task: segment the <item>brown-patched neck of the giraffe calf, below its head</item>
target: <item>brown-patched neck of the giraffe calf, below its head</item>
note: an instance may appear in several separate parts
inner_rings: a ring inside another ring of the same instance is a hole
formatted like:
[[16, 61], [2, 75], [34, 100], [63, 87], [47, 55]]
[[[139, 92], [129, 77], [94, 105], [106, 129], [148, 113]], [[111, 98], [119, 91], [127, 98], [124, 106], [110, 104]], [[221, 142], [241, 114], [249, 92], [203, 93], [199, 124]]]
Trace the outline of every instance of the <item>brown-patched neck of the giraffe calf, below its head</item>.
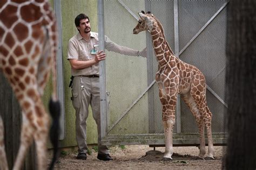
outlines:
[[164, 32], [160, 26], [154, 27], [151, 31], [151, 36], [154, 52], [160, 67], [165, 66], [171, 60], [174, 60], [175, 56], [169, 47], [168, 42], [165, 40]]

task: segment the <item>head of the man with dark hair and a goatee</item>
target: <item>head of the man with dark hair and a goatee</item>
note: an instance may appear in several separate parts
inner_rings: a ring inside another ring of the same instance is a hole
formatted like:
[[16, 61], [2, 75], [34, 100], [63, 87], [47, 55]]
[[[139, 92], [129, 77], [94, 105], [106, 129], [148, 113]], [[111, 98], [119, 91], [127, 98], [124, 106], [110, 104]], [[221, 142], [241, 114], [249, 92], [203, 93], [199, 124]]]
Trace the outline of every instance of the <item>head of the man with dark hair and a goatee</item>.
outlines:
[[[91, 31], [91, 25], [90, 25], [90, 19], [88, 16], [86, 16], [84, 13], [80, 13], [75, 18], [75, 25], [77, 27], [77, 30], [83, 31], [84, 33], [88, 33]], [[81, 32], [80, 32], [81, 33]]]

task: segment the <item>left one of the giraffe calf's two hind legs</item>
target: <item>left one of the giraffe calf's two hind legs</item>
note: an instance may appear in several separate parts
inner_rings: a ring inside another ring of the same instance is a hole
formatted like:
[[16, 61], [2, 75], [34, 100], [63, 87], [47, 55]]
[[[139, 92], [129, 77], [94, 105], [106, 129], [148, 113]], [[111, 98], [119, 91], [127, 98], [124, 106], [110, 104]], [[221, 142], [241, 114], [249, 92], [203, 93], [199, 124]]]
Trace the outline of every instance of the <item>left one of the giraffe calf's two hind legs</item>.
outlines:
[[190, 95], [190, 92], [187, 94], [181, 95], [184, 102], [187, 104], [188, 108], [196, 118], [196, 122], [199, 129], [199, 137], [200, 137], [200, 146], [199, 146], [199, 155], [198, 157], [204, 159], [206, 150], [205, 150], [205, 134], [204, 134], [204, 121], [203, 117], [200, 115], [199, 109], [197, 107], [197, 103], [194, 101], [193, 97]]

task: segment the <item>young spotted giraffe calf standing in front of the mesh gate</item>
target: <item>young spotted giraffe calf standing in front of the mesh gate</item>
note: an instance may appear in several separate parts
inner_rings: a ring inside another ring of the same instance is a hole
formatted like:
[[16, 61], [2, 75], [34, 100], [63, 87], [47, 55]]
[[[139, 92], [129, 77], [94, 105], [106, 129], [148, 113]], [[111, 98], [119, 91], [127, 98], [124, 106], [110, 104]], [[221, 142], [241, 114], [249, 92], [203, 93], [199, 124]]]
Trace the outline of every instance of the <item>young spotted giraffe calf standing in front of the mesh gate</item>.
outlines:
[[150, 12], [145, 14], [143, 11], [139, 15], [139, 23], [134, 27], [133, 34], [138, 34], [141, 31], [149, 31], [151, 33], [154, 52], [159, 64], [156, 82], [158, 83], [160, 102], [163, 107], [162, 119], [165, 133], [163, 160], [172, 159], [172, 133], [178, 94], [180, 94], [196, 118], [200, 133], [199, 158], [204, 159], [206, 154], [204, 138], [204, 128], [206, 127], [208, 138], [207, 159], [214, 159], [211, 132], [212, 113], [206, 102], [205, 76], [197, 67], [181, 61], [174, 55], [165, 40], [163, 26], [156, 17]]

